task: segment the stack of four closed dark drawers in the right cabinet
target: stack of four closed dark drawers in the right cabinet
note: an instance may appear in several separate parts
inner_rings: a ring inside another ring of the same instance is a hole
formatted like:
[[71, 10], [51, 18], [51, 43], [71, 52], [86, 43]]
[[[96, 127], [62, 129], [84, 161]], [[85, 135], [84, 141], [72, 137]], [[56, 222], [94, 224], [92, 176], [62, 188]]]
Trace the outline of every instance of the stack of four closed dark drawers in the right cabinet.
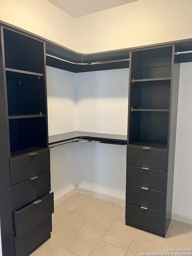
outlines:
[[168, 153], [127, 146], [126, 224], [159, 236], [165, 236]]

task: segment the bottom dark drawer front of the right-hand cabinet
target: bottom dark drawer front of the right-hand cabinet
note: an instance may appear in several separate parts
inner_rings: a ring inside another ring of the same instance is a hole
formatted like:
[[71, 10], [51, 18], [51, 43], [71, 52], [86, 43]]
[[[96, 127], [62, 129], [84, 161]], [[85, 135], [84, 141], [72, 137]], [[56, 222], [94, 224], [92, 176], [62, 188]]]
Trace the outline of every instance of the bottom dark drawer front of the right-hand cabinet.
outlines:
[[126, 224], [165, 237], [166, 214], [126, 203]]

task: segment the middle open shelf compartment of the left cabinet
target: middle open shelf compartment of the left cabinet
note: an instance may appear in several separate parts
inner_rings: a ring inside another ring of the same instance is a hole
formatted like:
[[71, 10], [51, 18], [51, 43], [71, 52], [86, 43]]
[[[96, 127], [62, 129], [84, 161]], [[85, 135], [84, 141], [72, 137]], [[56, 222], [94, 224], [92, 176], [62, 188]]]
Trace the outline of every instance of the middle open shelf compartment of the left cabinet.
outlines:
[[8, 114], [46, 113], [44, 77], [6, 71]]

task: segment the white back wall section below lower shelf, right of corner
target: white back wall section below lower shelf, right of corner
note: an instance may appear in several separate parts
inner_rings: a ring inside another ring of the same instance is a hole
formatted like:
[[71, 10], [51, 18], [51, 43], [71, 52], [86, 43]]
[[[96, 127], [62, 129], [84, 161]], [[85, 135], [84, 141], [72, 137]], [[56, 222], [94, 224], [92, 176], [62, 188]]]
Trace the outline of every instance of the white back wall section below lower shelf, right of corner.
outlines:
[[125, 202], [126, 146], [85, 142], [76, 147], [77, 186]]

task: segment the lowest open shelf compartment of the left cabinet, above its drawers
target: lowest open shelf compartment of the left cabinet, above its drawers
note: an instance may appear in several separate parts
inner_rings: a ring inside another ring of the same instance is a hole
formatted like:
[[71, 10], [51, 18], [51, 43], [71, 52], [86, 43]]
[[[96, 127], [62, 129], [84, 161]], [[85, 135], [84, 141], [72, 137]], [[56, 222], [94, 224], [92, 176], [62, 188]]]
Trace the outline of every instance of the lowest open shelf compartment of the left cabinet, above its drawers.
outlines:
[[46, 117], [9, 119], [11, 157], [47, 148]]

